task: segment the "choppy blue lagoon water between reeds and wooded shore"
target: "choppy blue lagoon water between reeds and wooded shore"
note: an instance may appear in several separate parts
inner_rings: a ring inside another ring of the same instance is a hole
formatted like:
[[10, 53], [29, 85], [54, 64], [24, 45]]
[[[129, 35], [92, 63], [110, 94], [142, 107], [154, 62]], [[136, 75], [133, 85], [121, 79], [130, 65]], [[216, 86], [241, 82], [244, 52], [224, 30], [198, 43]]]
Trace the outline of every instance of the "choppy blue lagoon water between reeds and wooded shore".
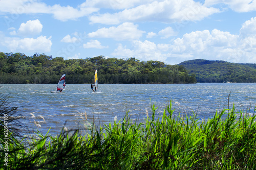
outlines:
[[[109, 124], [122, 119], [127, 111], [133, 120], [140, 122], [151, 105], [156, 115], [172, 100], [175, 114], [197, 113], [199, 118], [212, 117], [216, 111], [231, 108], [253, 114], [256, 106], [256, 83], [197, 83], [197, 84], [99, 84], [93, 93], [90, 84], [67, 84], [62, 93], [51, 93], [56, 84], [1, 84], [0, 93], [9, 94], [9, 106], [19, 107], [24, 124], [43, 133], [60, 131], [66, 122], [68, 129], [82, 125], [84, 112], [88, 122]], [[228, 106], [228, 95], [229, 106]], [[44, 118], [43, 118], [44, 117]], [[44, 120], [45, 119], [45, 120]]]

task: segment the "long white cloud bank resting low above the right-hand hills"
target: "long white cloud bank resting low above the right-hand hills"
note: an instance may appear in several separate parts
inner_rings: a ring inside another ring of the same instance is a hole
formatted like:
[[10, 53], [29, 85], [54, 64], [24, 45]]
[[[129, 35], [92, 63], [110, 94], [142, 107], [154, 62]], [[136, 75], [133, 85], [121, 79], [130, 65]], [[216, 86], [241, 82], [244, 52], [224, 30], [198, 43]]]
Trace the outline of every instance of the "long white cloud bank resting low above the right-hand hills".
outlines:
[[255, 24], [256, 18], [245, 21], [239, 35], [214, 29], [187, 33], [169, 44], [134, 40], [131, 48], [119, 44], [112, 55], [172, 64], [198, 58], [251, 63], [256, 61]]

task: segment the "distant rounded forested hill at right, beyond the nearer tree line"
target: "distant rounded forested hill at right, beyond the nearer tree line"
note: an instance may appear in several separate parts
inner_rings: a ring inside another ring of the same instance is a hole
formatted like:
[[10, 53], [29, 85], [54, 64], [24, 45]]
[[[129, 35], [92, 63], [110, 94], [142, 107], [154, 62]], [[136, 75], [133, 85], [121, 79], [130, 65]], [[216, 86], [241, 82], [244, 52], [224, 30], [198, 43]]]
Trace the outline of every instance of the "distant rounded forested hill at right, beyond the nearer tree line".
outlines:
[[196, 74], [197, 82], [252, 83], [256, 82], [256, 64], [238, 64], [226, 61], [210, 61], [203, 59], [184, 61], [183, 65], [189, 74]]

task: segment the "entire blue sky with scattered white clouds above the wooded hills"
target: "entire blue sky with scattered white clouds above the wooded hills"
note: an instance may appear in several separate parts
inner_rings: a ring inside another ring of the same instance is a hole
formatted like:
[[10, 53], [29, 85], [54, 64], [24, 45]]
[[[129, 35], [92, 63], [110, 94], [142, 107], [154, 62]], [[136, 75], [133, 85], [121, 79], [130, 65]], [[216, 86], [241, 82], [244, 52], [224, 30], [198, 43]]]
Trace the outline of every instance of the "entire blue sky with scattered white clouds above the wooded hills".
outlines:
[[0, 52], [256, 63], [254, 0], [0, 0]]

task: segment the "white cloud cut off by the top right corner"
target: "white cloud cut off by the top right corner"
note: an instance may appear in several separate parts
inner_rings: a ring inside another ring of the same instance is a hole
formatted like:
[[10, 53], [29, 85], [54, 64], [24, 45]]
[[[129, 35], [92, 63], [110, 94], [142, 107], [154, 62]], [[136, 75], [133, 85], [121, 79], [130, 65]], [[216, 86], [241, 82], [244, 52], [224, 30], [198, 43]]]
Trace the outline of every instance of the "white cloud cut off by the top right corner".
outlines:
[[254, 0], [205, 0], [205, 6], [213, 6], [217, 4], [225, 4], [236, 12], [250, 12], [256, 10], [256, 1]]

